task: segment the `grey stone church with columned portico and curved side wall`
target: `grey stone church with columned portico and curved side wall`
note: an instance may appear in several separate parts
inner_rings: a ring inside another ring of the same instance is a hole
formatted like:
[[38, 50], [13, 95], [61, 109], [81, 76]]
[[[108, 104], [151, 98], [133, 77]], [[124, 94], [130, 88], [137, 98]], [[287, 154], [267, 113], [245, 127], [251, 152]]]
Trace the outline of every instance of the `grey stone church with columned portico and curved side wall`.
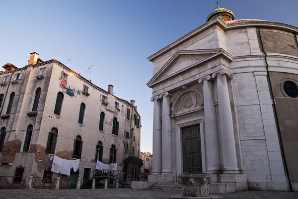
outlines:
[[297, 34], [218, 7], [151, 55], [149, 180], [202, 171], [212, 175], [213, 193], [298, 191]]

